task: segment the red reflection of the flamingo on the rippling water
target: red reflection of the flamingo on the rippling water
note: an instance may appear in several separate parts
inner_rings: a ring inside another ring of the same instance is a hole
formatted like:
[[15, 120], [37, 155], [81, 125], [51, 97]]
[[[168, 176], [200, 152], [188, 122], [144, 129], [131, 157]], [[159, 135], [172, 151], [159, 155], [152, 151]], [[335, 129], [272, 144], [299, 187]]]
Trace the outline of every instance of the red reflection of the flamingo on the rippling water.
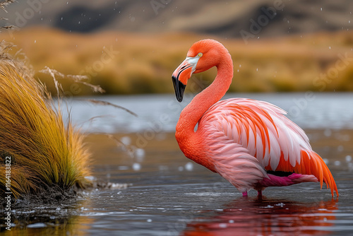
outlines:
[[328, 235], [337, 200], [317, 203], [240, 198], [208, 218], [196, 218], [181, 235]]

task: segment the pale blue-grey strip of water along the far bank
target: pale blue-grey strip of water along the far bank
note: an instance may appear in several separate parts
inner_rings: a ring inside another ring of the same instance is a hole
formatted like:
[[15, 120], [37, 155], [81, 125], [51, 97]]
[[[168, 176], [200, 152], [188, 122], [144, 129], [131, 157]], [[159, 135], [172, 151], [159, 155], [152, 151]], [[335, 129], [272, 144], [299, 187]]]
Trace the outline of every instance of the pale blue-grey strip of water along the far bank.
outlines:
[[[189, 104], [192, 94], [177, 102], [175, 95], [133, 95], [101, 97], [107, 102], [135, 112], [138, 117], [112, 107], [95, 106], [83, 99], [71, 100], [71, 117], [88, 132], [140, 132], [145, 130], [172, 132], [181, 110]], [[302, 129], [353, 129], [353, 93], [278, 93], [227, 94], [225, 98], [264, 100], [289, 112], [288, 117]], [[88, 122], [92, 117], [99, 117]]]

